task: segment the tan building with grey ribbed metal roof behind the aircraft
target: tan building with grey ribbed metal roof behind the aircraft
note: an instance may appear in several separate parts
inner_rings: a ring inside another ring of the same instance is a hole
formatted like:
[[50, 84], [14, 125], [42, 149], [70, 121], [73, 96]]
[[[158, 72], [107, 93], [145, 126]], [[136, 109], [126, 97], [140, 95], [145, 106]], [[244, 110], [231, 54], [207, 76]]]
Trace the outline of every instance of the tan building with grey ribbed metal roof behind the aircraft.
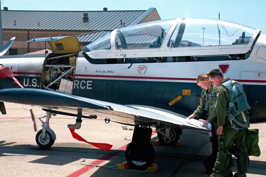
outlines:
[[[3, 44], [16, 37], [11, 46], [18, 51], [14, 54], [34, 52], [44, 49], [44, 44], [26, 44], [32, 38], [51, 36], [70, 36], [91, 33], [82, 37], [81, 45], [91, 43], [97, 38], [124, 26], [160, 20], [155, 8], [148, 10], [124, 11], [24, 11], [1, 10]], [[81, 37], [80, 37], [81, 38]]]

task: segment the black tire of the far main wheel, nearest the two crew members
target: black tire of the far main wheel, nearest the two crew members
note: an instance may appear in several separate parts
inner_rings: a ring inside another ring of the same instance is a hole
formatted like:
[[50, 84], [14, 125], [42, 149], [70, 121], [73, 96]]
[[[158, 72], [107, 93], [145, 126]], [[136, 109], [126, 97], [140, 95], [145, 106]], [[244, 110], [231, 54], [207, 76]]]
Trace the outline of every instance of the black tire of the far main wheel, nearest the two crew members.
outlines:
[[[160, 131], [163, 133], [166, 133], [166, 128], [162, 128]], [[162, 143], [172, 145], [178, 142], [180, 138], [180, 134], [179, 134], [178, 129], [171, 128], [169, 137], [165, 137], [160, 132], [157, 133], [157, 137]]]

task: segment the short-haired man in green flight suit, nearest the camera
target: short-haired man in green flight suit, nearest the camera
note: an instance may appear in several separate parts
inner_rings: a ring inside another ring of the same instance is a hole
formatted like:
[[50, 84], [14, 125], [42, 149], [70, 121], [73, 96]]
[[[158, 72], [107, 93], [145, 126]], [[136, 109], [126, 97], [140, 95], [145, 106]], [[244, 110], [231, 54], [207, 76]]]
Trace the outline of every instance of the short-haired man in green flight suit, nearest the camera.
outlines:
[[[242, 130], [235, 130], [231, 127], [230, 120], [227, 116], [228, 106], [230, 102], [230, 93], [228, 89], [222, 84], [226, 81], [229, 81], [230, 78], [225, 78], [223, 73], [219, 69], [212, 69], [208, 73], [208, 78], [212, 84], [217, 87], [217, 101], [216, 109], [217, 112], [217, 135], [219, 135], [219, 151], [217, 155], [217, 160], [214, 164], [214, 173], [211, 174], [212, 177], [221, 177], [222, 173], [225, 173], [226, 167], [232, 159], [232, 154], [229, 153], [230, 147], [235, 143], [237, 148], [237, 164], [238, 164], [238, 173], [234, 174], [234, 177], [246, 177], [248, 171], [248, 153], [247, 146], [245, 143], [245, 132], [247, 128]], [[242, 116], [242, 119], [247, 119], [247, 111], [243, 111], [238, 114]], [[236, 127], [240, 127], [235, 124]]]

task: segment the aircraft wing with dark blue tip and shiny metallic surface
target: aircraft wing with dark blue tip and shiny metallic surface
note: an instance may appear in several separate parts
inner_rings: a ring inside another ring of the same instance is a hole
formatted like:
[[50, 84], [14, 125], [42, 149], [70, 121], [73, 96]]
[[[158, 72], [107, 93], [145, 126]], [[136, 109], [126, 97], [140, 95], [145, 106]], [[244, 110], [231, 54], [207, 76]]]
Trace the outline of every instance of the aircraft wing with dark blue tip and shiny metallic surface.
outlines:
[[0, 90], [0, 101], [38, 106], [45, 111], [58, 114], [76, 114], [78, 108], [82, 108], [82, 115], [87, 116], [87, 118], [90, 115], [97, 115], [100, 119], [107, 118], [112, 122], [124, 125], [207, 130], [204, 127], [199, 128], [186, 123], [185, 116], [178, 116], [163, 110], [125, 106], [42, 89], [3, 89]]

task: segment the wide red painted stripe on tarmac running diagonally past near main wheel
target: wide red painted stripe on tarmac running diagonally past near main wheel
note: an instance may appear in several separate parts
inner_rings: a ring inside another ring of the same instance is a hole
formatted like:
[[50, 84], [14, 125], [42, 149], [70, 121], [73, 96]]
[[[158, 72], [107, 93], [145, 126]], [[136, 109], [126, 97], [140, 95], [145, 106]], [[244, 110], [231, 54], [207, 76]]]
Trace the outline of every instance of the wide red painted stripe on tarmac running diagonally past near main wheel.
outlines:
[[[152, 136], [155, 135], [155, 134], [157, 134], [157, 133], [152, 132]], [[126, 146], [127, 146], [127, 144], [122, 146], [122, 147], [120, 147], [120, 148], [118, 148], [118, 150], [125, 151], [126, 150]], [[103, 163], [104, 161], [107, 161], [108, 159], [114, 157], [115, 155], [117, 155], [119, 153], [120, 152], [112, 152], [110, 154], [107, 154], [107, 155], [97, 159], [96, 161], [93, 161], [92, 163], [90, 163], [90, 165], [99, 165], [99, 164]], [[86, 173], [87, 171], [89, 171], [89, 170], [91, 170], [91, 169], [93, 169], [95, 167], [95, 166], [90, 166], [90, 165], [86, 165], [85, 167], [82, 167], [81, 169], [71, 173], [70, 175], [68, 175], [66, 177], [78, 177], [78, 176]]]

